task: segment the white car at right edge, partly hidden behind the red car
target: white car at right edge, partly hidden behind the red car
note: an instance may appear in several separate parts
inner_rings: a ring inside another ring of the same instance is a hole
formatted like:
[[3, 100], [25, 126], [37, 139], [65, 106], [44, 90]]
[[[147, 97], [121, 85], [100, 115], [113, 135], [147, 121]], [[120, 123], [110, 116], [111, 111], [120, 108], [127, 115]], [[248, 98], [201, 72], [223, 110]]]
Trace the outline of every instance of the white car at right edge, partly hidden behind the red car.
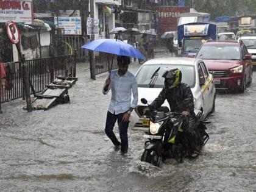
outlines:
[[243, 41], [248, 52], [252, 55], [252, 63], [256, 68], [256, 34], [244, 35], [238, 38], [238, 42]]

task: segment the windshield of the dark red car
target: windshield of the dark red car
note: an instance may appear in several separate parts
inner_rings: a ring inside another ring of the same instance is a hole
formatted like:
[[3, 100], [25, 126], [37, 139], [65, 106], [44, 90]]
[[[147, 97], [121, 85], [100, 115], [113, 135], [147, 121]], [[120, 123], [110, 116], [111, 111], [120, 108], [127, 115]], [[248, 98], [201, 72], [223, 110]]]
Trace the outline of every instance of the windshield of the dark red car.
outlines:
[[196, 58], [213, 60], [240, 60], [240, 44], [204, 44]]

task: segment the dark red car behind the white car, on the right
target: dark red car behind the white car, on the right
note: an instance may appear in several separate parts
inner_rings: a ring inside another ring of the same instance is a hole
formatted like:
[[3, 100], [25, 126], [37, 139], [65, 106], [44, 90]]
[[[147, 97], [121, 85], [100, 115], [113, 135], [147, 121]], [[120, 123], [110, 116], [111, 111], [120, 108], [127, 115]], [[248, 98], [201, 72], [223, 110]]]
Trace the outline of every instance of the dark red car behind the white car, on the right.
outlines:
[[252, 57], [242, 42], [204, 43], [196, 58], [204, 60], [216, 89], [243, 93], [252, 82]]

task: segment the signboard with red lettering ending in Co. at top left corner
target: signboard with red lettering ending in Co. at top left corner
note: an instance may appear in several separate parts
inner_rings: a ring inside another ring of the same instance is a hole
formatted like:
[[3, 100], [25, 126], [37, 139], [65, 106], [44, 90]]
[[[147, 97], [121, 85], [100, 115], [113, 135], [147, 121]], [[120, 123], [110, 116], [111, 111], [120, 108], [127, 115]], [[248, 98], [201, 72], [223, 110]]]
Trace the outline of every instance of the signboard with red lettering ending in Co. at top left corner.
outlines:
[[33, 20], [32, 0], [0, 0], [0, 23], [31, 23]]

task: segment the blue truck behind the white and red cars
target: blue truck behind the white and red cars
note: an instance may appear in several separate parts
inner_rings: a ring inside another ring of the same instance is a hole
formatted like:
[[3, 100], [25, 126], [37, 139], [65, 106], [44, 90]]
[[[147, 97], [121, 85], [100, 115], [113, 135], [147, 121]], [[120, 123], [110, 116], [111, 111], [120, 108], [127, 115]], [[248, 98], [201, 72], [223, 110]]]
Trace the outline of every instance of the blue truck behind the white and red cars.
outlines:
[[196, 55], [205, 41], [216, 41], [217, 25], [214, 23], [187, 23], [178, 26], [178, 44], [180, 55]]

